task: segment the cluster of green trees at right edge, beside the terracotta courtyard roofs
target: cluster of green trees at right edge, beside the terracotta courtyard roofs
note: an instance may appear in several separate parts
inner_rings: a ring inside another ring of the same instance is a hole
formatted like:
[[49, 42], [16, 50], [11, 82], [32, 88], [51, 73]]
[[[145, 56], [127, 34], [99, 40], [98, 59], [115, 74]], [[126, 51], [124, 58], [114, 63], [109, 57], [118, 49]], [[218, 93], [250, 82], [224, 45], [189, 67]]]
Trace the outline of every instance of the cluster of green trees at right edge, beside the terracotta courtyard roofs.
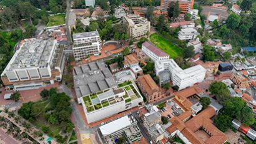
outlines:
[[246, 126], [253, 125], [255, 123], [254, 113], [252, 109], [247, 105], [240, 97], [231, 97], [227, 85], [223, 82], [212, 82], [209, 87], [210, 94], [224, 105], [222, 113], [215, 118], [215, 125], [225, 132], [231, 128], [232, 120], [235, 118]]

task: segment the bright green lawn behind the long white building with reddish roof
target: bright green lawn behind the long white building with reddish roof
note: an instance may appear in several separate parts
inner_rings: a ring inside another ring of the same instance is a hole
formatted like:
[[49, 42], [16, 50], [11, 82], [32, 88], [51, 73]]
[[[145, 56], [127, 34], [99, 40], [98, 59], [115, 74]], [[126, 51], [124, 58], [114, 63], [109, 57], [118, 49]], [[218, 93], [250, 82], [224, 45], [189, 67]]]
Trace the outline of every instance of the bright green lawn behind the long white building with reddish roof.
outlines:
[[162, 49], [164, 52], [169, 54], [170, 58], [174, 59], [182, 55], [182, 50], [179, 47], [174, 46], [167, 41], [167, 39], [164, 39], [164, 37], [157, 33], [150, 35], [150, 41], [155, 44], [155, 46], [159, 47], [159, 49]]

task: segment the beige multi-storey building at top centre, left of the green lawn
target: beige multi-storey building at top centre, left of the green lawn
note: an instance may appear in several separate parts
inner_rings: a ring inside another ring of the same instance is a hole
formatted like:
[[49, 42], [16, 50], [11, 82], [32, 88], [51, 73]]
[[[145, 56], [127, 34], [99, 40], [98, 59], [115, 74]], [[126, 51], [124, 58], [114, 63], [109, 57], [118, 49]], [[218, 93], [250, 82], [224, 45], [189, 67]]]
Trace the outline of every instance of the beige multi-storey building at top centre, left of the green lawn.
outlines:
[[145, 17], [129, 14], [124, 16], [124, 22], [128, 22], [128, 33], [132, 38], [145, 36], [150, 32], [150, 21]]

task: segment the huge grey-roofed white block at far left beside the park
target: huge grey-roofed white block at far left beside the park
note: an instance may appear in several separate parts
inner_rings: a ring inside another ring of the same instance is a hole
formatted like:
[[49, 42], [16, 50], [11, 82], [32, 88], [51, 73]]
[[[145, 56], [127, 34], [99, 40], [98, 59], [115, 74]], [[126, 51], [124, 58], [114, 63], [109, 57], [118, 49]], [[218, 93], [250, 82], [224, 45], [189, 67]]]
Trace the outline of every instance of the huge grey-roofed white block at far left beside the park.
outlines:
[[37, 89], [61, 81], [64, 47], [54, 39], [24, 39], [1, 74], [1, 80], [16, 90]]

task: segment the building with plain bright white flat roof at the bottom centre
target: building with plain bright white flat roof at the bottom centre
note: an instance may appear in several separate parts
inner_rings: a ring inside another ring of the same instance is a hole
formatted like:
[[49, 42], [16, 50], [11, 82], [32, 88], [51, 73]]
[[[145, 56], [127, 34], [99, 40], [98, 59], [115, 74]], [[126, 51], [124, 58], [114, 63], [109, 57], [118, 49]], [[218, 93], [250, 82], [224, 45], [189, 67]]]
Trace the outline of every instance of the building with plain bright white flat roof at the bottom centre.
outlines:
[[114, 143], [116, 139], [124, 135], [129, 143], [140, 140], [142, 137], [137, 120], [132, 115], [126, 115], [102, 125], [97, 129], [97, 135], [103, 144]]

